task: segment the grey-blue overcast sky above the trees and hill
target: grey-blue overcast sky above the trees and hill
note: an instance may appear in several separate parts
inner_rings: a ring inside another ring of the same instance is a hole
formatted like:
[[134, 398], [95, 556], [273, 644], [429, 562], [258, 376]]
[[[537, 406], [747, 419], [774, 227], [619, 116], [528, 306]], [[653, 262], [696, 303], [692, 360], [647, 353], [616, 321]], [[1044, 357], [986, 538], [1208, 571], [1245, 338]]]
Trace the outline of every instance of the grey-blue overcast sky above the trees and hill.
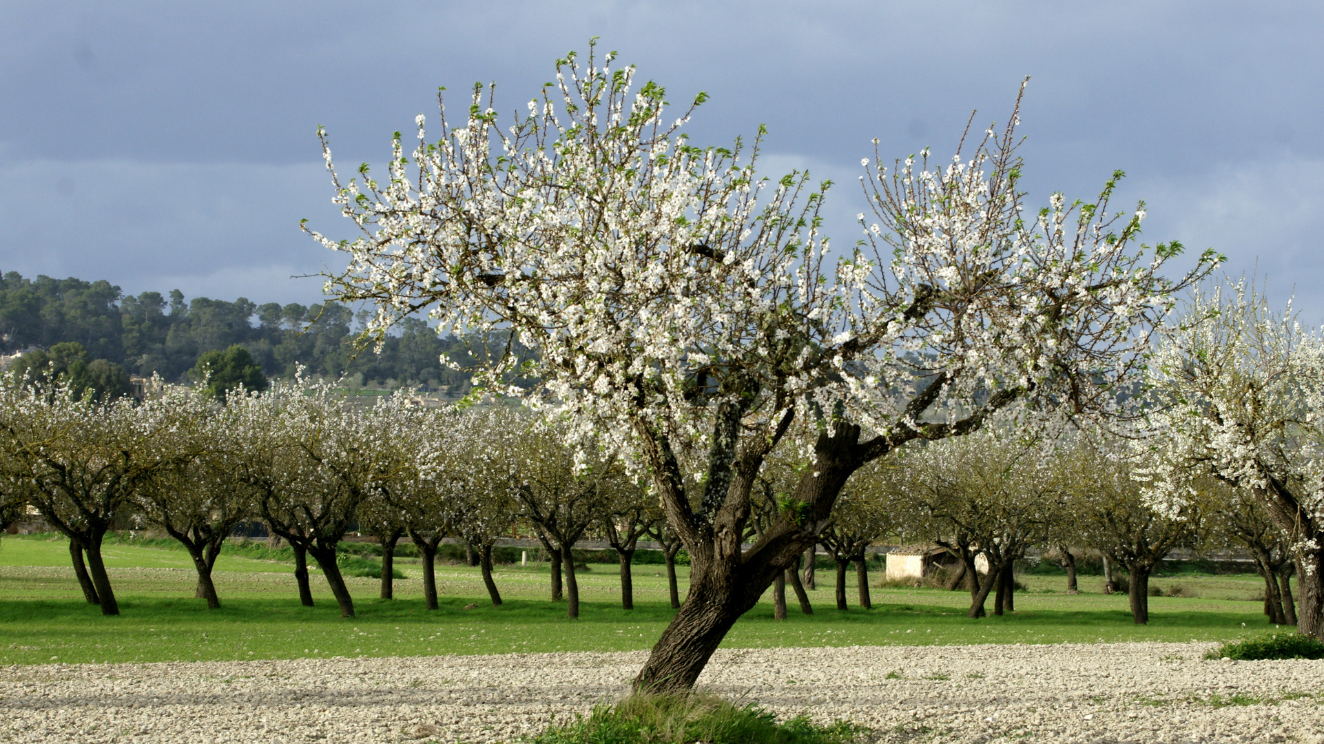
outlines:
[[[1145, 240], [1214, 248], [1271, 299], [1324, 322], [1324, 4], [1250, 3], [79, 3], [0, 5], [0, 270], [105, 278], [136, 294], [316, 302], [336, 256], [299, 229], [330, 205], [314, 131], [346, 165], [498, 83], [520, 107], [588, 38], [724, 144], [769, 127], [769, 168], [839, 185], [858, 163], [951, 152], [972, 110], [1005, 120], [1023, 75], [1031, 201], [1128, 173]], [[346, 222], [346, 225], [342, 225]]]

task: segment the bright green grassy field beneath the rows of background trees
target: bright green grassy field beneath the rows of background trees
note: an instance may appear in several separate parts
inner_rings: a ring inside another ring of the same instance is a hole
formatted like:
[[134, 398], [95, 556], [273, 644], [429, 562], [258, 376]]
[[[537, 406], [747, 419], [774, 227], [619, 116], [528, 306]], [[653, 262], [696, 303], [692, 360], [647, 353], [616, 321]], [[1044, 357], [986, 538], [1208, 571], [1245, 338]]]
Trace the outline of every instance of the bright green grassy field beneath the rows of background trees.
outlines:
[[[616, 565], [580, 572], [581, 617], [547, 600], [545, 565], [498, 567], [506, 602], [494, 608], [477, 568], [438, 565], [441, 609], [422, 602], [421, 571], [397, 560], [406, 579], [396, 600], [379, 600], [377, 581], [348, 579], [359, 617], [342, 618], [326, 584], [314, 577], [316, 606], [299, 605], [293, 565], [222, 556], [216, 585], [222, 608], [193, 598], [195, 573], [179, 549], [110, 544], [106, 564], [122, 616], [86, 604], [64, 540], [0, 541], [0, 663], [156, 662], [302, 657], [612, 651], [650, 647], [670, 621], [666, 576], [637, 565], [636, 609], [622, 610]], [[685, 567], [681, 567], [682, 582]], [[937, 589], [874, 589], [874, 609], [834, 606], [830, 572], [810, 592], [816, 614], [772, 618], [771, 593], [726, 639], [728, 647], [928, 643], [1057, 643], [1098, 641], [1223, 641], [1266, 628], [1258, 576], [1182, 575], [1153, 581], [1194, 597], [1152, 597], [1151, 622], [1136, 626], [1125, 596], [1102, 594], [1102, 579], [1082, 577], [1066, 594], [1063, 576], [1026, 575], [1017, 612], [972, 621], [969, 597]], [[683, 584], [682, 584], [683, 592]], [[475, 604], [474, 609], [463, 609]], [[992, 601], [989, 602], [992, 608]]]

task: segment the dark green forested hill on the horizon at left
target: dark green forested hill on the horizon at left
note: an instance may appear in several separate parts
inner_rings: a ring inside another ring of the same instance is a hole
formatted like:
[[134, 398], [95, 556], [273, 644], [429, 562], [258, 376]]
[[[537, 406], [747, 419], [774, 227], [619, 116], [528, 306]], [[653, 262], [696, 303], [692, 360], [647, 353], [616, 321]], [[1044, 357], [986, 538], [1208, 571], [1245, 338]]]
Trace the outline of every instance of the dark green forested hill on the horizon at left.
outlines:
[[[289, 377], [297, 364], [311, 373], [348, 375], [364, 384], [446, 387], [462, 393], [469, 376], [445, 369], [442, 353], [465, 361], [465, 347], [454, 338], [438, 338], [422, 320], [408, 319], [400, 334], [387, 340], [381, 353], [365, 349], [355, 356], [355, 318], [335, 304], [257, 304], [197, 297], [187, 301], [179, 290], [124, 297], [106, 281], [25, 279], [16, 271], [0, 278], [0, 352], [50, 348], [77, 342], [91, 359], [106, 359], [130, 375], [156, 372], [181, 381], [212, 349], [241, 344], [269, 377]], [[357, 375], [363, 375], [357, 377]]]

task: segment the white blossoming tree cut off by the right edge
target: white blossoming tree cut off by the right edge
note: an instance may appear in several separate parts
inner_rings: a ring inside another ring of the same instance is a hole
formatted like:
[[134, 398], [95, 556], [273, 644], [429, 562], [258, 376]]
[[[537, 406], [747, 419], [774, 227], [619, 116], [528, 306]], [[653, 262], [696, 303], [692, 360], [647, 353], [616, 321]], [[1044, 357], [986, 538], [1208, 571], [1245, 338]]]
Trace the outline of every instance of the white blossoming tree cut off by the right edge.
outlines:
[[1324, 637], [1324, 339], [1229, 282], [1166, 330], [1151, 384], [1151, 502], [1180, 511], [1204, 475], [1249, 490], [1295, 555], [1299, 631]]

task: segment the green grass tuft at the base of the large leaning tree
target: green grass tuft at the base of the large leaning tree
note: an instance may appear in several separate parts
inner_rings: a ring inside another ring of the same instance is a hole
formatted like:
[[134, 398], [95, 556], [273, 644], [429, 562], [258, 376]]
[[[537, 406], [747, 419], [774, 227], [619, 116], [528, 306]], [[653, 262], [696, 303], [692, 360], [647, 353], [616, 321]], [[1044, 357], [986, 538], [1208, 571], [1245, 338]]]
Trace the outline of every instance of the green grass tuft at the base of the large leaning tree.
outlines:
[[818, 725], [800, 715], [777, 723], [755, 704], [712, 695], [633, 695], [597, 706], [588, 718], [552, 725], [532, 744], [851, 744], [869, 729], [849, 721]]

